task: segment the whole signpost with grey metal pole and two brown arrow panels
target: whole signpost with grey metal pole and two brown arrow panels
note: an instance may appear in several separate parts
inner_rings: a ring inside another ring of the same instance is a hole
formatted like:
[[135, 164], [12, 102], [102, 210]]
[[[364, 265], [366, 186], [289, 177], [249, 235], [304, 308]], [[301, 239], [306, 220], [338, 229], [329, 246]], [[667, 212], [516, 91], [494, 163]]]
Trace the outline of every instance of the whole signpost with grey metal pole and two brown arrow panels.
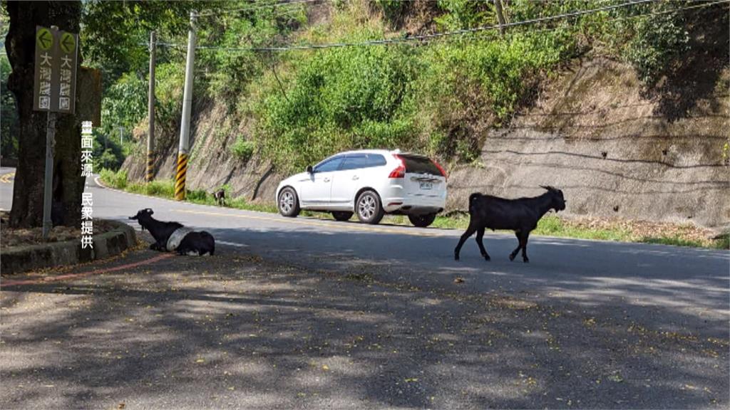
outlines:
[[58, 27], [36, 26], [36, 58], [33, 109], [48, 113], [46, 158], [43, 189], [43, 239], [52, 227], [50, 219], [53, 187], [53, 147], [55, 115], [74, 114], [76, 109], [76, 67], [79, 35], [59, 31]]

